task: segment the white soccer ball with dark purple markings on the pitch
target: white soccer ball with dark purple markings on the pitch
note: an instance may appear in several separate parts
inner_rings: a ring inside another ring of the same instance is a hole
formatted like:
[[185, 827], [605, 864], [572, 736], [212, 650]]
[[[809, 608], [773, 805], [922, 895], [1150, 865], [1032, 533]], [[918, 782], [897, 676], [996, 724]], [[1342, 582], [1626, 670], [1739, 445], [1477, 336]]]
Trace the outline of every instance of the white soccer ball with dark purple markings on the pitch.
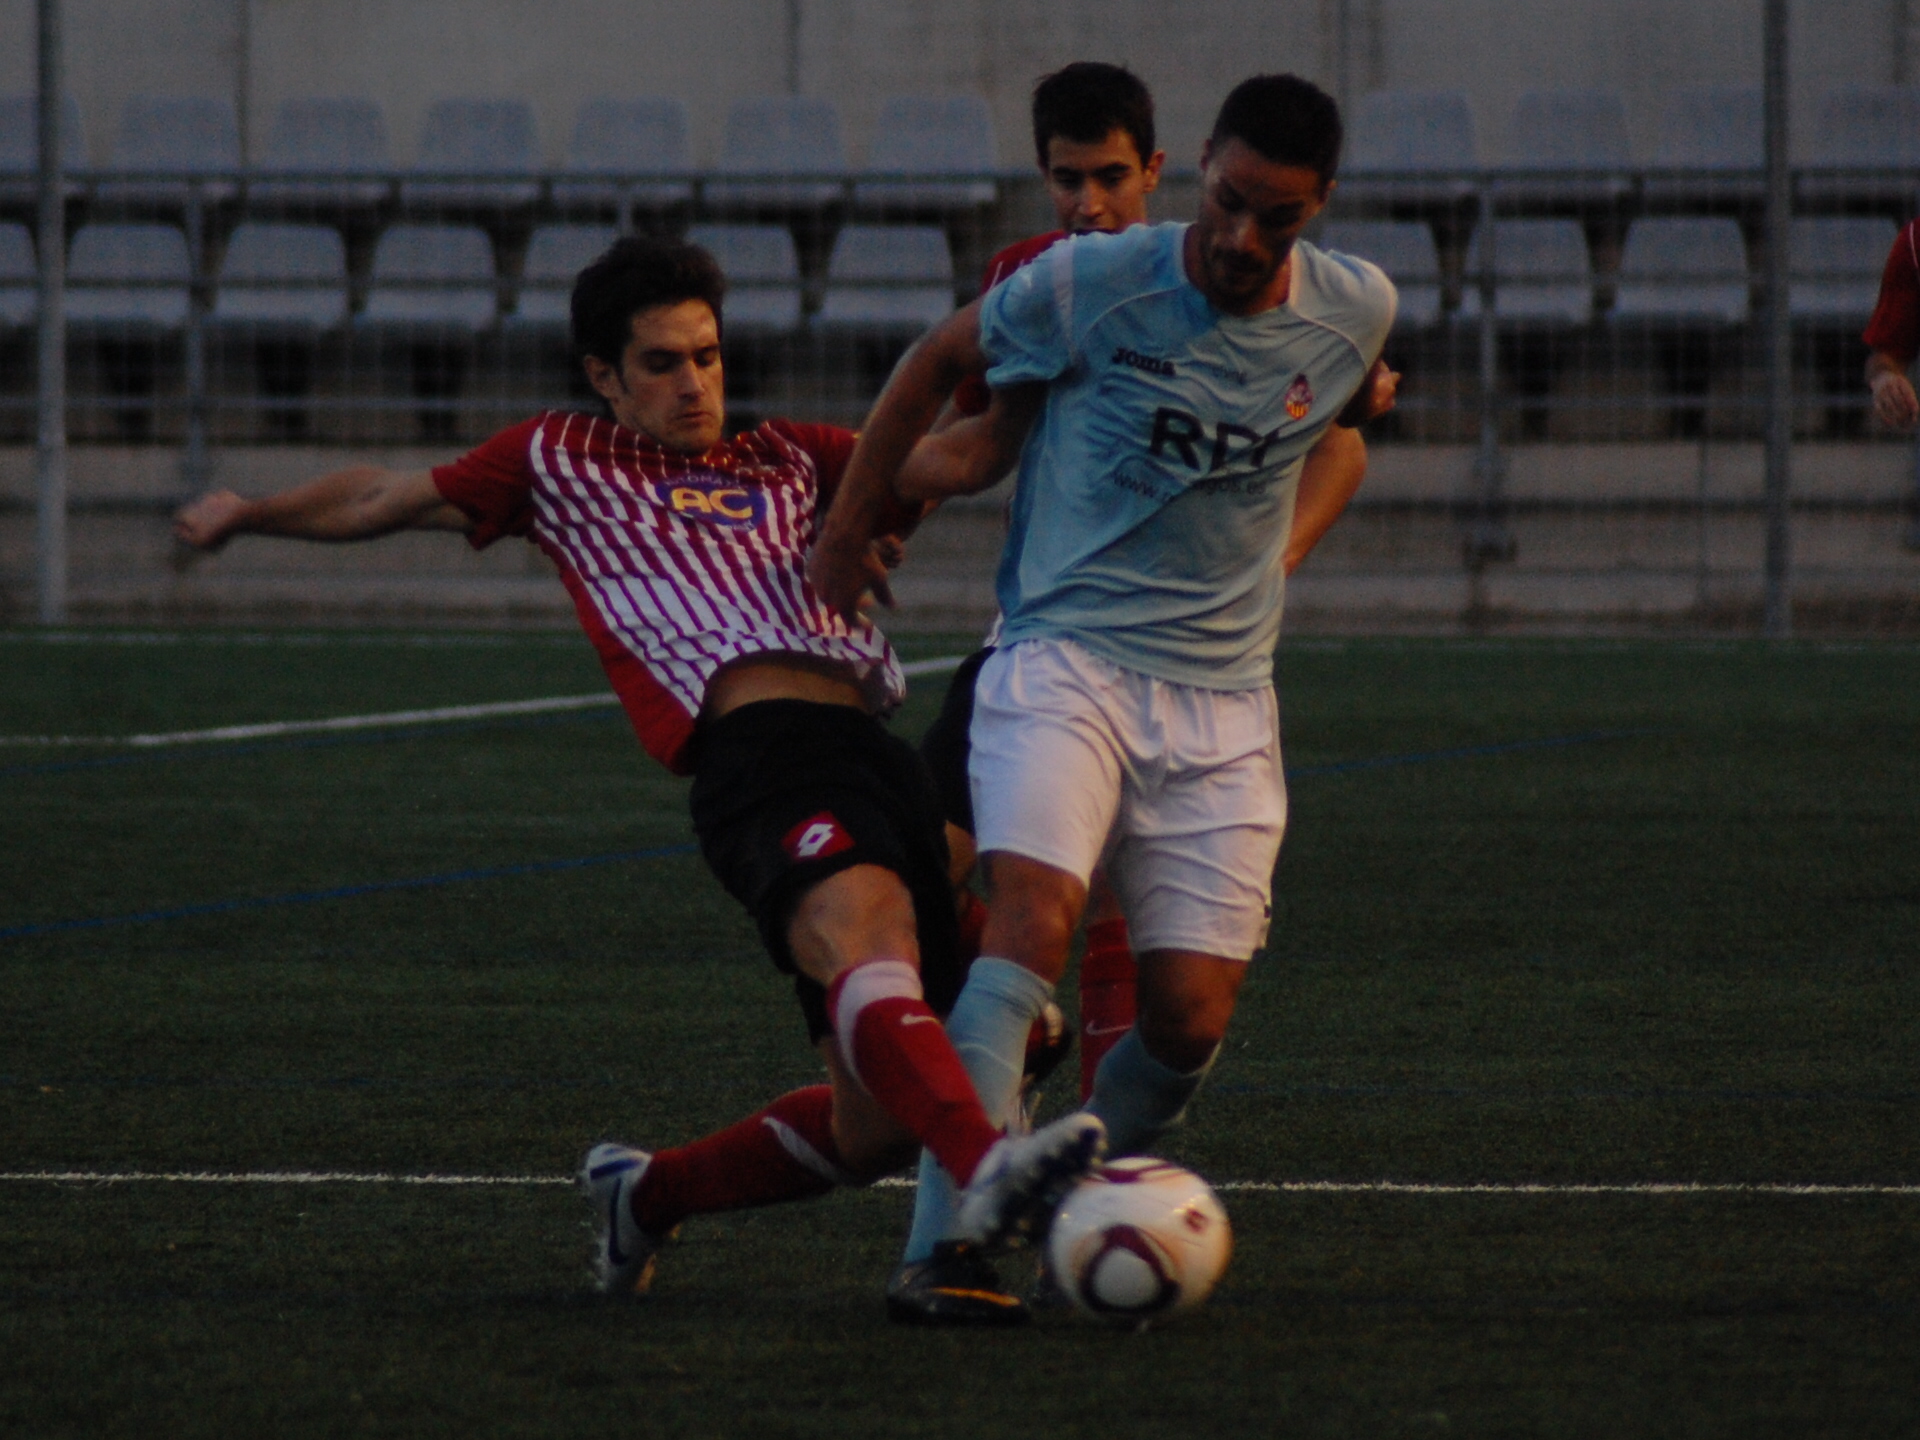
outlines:
[[1054, 1213], [1046, 1263], [1094, 1319], [1146, 1325], [1194, 1309], [1233, 1254], [1233, 1227], [1208, 1183], [1165, 1160], [1112, 1160]]

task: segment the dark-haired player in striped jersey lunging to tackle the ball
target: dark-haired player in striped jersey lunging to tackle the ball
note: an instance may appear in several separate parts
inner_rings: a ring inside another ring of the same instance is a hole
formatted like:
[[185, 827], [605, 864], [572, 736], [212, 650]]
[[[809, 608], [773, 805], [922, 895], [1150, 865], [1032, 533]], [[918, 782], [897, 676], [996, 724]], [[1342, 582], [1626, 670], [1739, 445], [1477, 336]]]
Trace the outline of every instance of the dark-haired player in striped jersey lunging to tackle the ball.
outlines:
[[[904, 693], [899, 660], [804, 576], [854, 438], [787, 420], [724, 438], [722, 292], [705, 250], [620, 240], [572, 294], [574, 346], [611, 419], [547, 411], [434, 470], [215, 492], [175, 518], [200, 549], [238, 534], [526, 536], [559, 566], [641, 743], [693, 776], [701, 852], [797, 975], [828, 1083], [682, 1148], [588, 1152], [597, 1275], [620, 1294], [647, 1288], [687, 1215], [862, 1185], [922, 1146], [966, 1187], [970, 1238], [991, 1244], [1100, 1148], [1087, 1116], [1004, 1135], [937, 1020], [958, 935], [931, 780], [877, 718]], [[870, 540], [912, 518], [887, 507]], [[872, 551], [862, 566], [883, 582]]]

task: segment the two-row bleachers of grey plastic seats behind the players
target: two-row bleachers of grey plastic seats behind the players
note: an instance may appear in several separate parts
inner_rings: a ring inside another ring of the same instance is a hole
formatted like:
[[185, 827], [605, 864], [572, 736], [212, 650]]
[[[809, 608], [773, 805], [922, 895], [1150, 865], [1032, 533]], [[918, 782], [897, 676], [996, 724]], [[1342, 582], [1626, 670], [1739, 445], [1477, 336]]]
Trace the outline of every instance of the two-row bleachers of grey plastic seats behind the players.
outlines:
[[[1661, 459], [1672, 484], [1634, 493], [1732, 516], [1740, 540], [1716, 555], [1701, 541], [1695, 580], [1751, 549], [1751, 486], [1716, 490], [1715, 467], [1764, 420], [1759, 92], [1676, 90], [1644, 156], [1628, 121], [1611, 92], [1532, 90], [1488, 159], [1463, 94], [1377, 92], [1352, 108], [1340, 188], [1309, 238], [1400, 288], [1388, 359], [1405, 380], [1371, 432], [1361, 509], [1425, 516], [1434, 534], [1467, 516], [1465, 547], [1436, 566], [1465, 555], [1478, 576], [1505, 561], [1528, 513], [1619, 509], [1561, 472], [1592, 445], [1642, 459], [1697, 445], [1680, 468]], [[1859, 445], [1876, 440], [1859, 332], [1895, 228], [1920, 205], [1920, 92], [1836, 90], [1801, 129], [1795, 428]], [[106, 167], [83, 163], [84, 132], [113, 136]], [[541, 136], [522, 100], [453, 96], [430, 102], [411, 138], [397, 146], [355, 96], [284, 102], [252, 156], [225, 100], [134, 98], [113, 117], [69, 106], [73, 440], [180, 447], [202, 457], [192, 486], [223, 449], [447, 449], [540, 405], [584, 403], [570, 282], [636, 230], [685, 234], [726, 271], [735, 419], [854, 424], [904, 346], [972, 298], [987, 255], [1050, 227], [1031, 169], [998, 163], [975, 96], [885, 100], [862, 154], [829, 100], [745, 100], [707, 136], [710, 167], [695, 163], [685, 108], [664, 98], [588, 98], [564, 134]], [[31, 98], [0, 98], [12, 444], [33, 428], [35, 163]], [[1190, 175], [1169, 177], [1158, 213], [1187, 219], [1192, 194]], [[1914, 505], [1905, 451], [1862, 453], [1880, 478], [1822, 480], [1820, 503], [1897, 530]], [[1455, 478], [1394, 492], [1396, 472], [1436, 465]], [[1709, 589], [1699, 580], [1699, 603]]]

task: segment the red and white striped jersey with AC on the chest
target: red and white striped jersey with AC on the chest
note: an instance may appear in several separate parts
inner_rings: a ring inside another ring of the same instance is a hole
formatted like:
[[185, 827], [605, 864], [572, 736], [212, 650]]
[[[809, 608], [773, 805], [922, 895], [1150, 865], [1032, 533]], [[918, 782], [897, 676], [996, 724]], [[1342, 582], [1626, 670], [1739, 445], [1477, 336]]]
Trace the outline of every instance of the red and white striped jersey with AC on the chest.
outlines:
[[687, 770], [714, 672], [749, 655], [845, 666], [887, 712], [906, 682], [887, 637], [806, 584], [806, 551], [852, 432], [768, 420], [703, 455], [547, 411], [434, 470], [476, 549], [530, 536], [559, 566], [641, 745]]

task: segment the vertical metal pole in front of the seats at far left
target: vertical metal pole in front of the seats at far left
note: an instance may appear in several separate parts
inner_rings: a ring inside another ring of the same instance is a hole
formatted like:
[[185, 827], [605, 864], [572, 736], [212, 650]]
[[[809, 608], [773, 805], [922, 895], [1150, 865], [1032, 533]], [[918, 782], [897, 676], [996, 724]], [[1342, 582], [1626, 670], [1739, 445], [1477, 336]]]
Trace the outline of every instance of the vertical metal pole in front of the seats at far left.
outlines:
[[60, 0], [40, 21], [40, 351], [35, 453], [35, 580], [40, 624], [67, 622], [67, 194], [60, 173]]

